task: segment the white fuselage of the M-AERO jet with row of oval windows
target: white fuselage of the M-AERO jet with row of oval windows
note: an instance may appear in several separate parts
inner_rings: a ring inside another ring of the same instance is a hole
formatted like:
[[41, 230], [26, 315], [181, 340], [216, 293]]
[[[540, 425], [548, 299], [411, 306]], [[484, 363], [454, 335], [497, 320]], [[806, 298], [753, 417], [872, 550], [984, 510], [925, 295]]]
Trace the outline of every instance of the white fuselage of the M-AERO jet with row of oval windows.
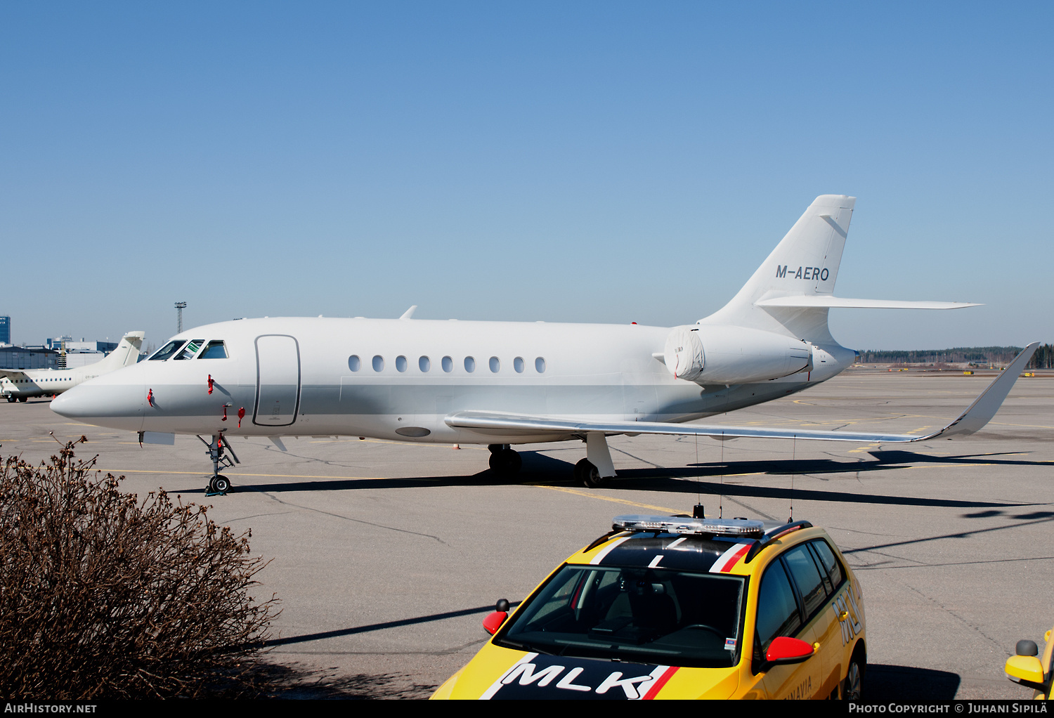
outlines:
[[[458, 411], [589, 421], [685, 422], [800, 391], [854, 361], [814, 346], [809, 371], [739, 385], [675, 379], [652, 354], [669, 328], [367, 318], [225, 322], [173, 341], [223, 343], [226, 358], [152, 360], [56, 400], [59, 413], [132, 431], [363, 435], [491, 443], [452, 428]], [[749, 346], [725, 348], [749, 353]], [[749, 360], [744, 354], [744, 360]], [[209, 379], [212, 392], [209, 392]], [[245, 411], [239, 420], [239, 410]], [[223, 416], [227, 416], [226, 421]], [[240, 427], [238, 426], [240, 423]], [[523, 433], [506, 443], [567, 436]]]

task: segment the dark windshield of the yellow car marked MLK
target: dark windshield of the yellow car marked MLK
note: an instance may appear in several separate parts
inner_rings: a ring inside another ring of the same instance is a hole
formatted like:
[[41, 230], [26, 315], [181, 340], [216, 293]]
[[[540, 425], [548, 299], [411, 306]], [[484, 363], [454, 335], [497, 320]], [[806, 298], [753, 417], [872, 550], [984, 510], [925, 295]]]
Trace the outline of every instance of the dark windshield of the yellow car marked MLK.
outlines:
[[745, 580], [663, 568], [565, 565], [495, 636], [560, 656], [730, 667]]

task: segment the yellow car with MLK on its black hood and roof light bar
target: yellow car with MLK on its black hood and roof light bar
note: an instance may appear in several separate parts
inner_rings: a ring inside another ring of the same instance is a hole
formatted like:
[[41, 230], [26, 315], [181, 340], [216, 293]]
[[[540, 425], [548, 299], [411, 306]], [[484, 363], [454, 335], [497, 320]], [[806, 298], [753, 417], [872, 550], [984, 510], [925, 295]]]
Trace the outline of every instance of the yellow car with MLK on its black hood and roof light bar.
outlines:
[[432, 698], [860, 698], [863, 600], [807, 521], [622, 516]]

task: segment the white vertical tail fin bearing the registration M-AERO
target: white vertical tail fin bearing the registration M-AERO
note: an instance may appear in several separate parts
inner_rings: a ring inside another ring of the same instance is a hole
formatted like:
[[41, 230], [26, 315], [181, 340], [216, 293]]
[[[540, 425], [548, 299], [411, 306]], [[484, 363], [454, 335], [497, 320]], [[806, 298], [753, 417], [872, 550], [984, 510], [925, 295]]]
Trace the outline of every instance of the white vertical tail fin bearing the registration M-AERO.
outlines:
[[855, 205], [856, 197], [843, 194], [814, 199], [731, 302], [701, 323], [763, 329], [818, 344], [834, 342], [827, 330], [828, 307], [793, 306], [801, 304], [793, 299], [784, 306], [759, 303], [834, 296]]

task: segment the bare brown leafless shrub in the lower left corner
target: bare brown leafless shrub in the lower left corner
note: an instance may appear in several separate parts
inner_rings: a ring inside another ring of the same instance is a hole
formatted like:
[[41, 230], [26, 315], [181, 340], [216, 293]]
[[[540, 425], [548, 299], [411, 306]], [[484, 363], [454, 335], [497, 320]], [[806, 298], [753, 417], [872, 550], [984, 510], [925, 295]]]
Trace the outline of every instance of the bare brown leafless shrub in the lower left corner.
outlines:
[[[80, 441], [86, 441], [82, 436]], [[79, 443], [79, 442], [77, 442]], [[0, 695], [87, 699], [242, 694], [276, 616], [249, 596], [265, 565], [250, 532], [65, 444], [0, 476]], [[255, 691], [253, 691], [255, 693]]]

